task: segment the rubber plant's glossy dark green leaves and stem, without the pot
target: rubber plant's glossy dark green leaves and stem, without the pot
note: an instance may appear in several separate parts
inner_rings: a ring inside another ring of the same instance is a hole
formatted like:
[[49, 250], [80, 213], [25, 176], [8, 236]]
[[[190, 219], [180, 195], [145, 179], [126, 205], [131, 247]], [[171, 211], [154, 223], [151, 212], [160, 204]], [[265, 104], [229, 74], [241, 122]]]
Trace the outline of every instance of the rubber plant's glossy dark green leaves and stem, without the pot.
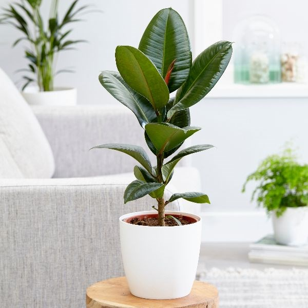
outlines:
[[[202, 192], [174, 194], [168, 200], [163, 196], [177, 163], [183, 157], [213, 145], [190, 146], [167, 162], [165, 159], [201, 129], [190, 126], [189, 108], [215, 86], [231, 55], [232, 43], [220, 41], [206, 48], [192, 62], [185, 24], [178, 12], [166, 8], [152, 18], [138, 48], [118, 46], [115, 49], [119, 72], [102, 71], [99, 75], [102, 86], [136, 115], [157, 165], [151, 165], [146, 151], [140, 146], [103, 144], [94, 148], [121, 151], [139, 162], [133, 170], [136, 180], [127, 186], [124, 202], [146, 195], [155, 198], [160, 226], [165, 225], [165, 206], [172, 201], [183, 198], [209, 203], [208, 196]], [[175, 96], [170, 94], [175, 91]]]

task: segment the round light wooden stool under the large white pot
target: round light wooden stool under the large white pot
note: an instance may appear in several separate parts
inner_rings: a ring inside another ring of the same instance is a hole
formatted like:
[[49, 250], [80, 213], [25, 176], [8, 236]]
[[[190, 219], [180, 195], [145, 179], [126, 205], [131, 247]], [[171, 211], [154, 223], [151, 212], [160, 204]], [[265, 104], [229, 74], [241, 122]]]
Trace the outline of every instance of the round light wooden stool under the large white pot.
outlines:
[[125, 277], [112, 278], [87, 288], [87, 308], [218, 308], [214, 285], [195, 281], [189, 295], [177, 299], [143, 299], [129, 292]]

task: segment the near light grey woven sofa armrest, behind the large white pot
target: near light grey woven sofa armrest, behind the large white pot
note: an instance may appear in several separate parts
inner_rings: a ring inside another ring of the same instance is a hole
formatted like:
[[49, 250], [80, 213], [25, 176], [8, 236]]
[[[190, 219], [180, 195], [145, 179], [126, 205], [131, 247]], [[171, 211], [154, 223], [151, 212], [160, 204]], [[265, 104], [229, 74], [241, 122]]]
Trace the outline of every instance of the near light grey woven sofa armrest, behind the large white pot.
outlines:
[[82, 307], [88, 285], [123, 275], [118, 219], [156, 202], [124, 205], [130, 177], [0, 180], [4, 307]]

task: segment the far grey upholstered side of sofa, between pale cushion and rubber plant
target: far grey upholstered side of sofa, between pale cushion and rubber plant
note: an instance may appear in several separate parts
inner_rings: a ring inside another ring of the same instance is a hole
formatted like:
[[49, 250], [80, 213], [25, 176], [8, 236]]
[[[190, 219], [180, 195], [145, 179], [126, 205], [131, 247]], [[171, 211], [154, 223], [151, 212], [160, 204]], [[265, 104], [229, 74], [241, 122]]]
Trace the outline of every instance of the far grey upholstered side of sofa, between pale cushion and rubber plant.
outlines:
[[[148, 150], [134, 114], [122, 106], [33, 106], [55, 160], [55, 178], [90, 177], [130, 172], [136, 161], [108, 149], [89, 149], [103, 143], [128, 143]], [[153, 161], [156, 165], [156, 162]], [[182, 159], [179, 166], [187, 165]]]

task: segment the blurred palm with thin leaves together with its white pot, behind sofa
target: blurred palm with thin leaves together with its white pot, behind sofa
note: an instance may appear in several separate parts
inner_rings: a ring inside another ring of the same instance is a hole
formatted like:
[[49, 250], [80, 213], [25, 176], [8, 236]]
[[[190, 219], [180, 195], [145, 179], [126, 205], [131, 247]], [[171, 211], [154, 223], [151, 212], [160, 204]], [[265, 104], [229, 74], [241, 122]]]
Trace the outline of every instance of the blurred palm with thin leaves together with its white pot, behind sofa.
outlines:
[[[69, 50], [82, 40], [68, 39], [72, 29], [67, 26], [79, 21], [78, 14], [87, 6], [76, 8], [79, 0], [73, 1], [59, 20], [57, 6], [59, 0], [51, 1], [50, 17], [47, 26], [44, 26], [40, 12], [42, 0], [25, 0], [21, 3], [10, 4], [0, 15], [0, 23], [9, 24], [22, 32], [13, 46], [26, 41], [25, 57], [29, 61], [28, 68], [23, 75], [24, 85], [22, 94], [29, 104], [44, 105], [75, 105], [76, 89], [68, 87], [54, 87], [54, 78], [58, 73], [71, 72], [68, 69], [55, 71], [55, 56], [60, 51]], [[36, 86], [29, 85], [35, 83]]]

